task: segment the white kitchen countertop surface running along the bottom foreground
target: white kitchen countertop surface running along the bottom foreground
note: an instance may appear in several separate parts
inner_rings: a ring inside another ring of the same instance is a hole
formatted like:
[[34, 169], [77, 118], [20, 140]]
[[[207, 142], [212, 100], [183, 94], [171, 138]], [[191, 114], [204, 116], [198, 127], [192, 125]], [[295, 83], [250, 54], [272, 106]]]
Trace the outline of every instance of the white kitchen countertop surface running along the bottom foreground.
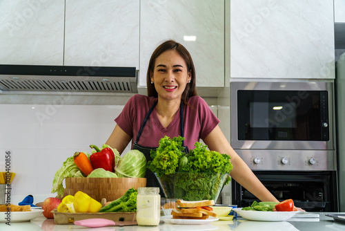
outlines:
[[[43, 215], [31, 220], [30, 222], [11, 223], [6, 225], [0, 223], [0, 230], [45, 230], [45, 231], [63, 231], [63, 230], [90, 230], [90, 231], [159, 231], [159, 230], [282, 230], [282, 231], [323, 231], [323, 230], [345, 230], [345, 223], [334, 221], [333, 218], [325, 216], [325, 214], [344, 214], [337, 212], [315, 213], [319, 214], [319, 218], [299, 218], [288, 221], [248, 221], [238, 218], [232, 221], [214, 221], [207, 225], [172, 225], [168, 223], [159, 223], [158, 226], [145, 227], [138, 225], [123, 227], [103, 227], [103, 228], [85, 228], [77, 225], [56, 225], [54, 219], [46, 219]], [[297, 221], [296, 221], [297, 220]]]

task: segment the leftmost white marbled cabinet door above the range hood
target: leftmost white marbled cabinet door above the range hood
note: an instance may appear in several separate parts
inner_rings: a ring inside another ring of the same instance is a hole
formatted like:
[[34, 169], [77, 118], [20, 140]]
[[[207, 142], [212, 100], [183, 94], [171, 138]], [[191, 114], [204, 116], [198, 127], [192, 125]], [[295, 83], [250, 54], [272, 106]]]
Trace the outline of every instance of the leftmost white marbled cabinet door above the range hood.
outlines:
[[63, 64], [64, 0], [0, 1], [0, 64]]

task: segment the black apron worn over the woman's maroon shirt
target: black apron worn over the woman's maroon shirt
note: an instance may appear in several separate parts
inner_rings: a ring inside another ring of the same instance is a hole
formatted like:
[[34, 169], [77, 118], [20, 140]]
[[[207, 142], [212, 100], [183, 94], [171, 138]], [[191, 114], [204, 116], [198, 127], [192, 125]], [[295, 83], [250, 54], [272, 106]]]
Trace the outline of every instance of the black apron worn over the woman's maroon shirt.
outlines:
[[[145, 157], [146, 157], [146, 161], [152, 160], [151, 155], [150, 155], [150, 151], [153, 150], [155, 151], [157, 149], [157, 147], [144, 147], [142, 145], [139, 145], [139, 138], [141, 136], [141, 133], [144, 130], [144, 127], [146, 125], [146, 122], [148, 121], [148, 118], [150, 117], [153, 109], [156, 107], [158, 100], [152, 105], [152, 107], [150, 108], [150, 110], [148, 111], [148, 113], [145, 116], [144, 122], [143, 124], [141, 124], [138, 136], [137, 136], [137, 140], [135, 140], [134, 144], [133, 144], [133, 149], [136, 149], [138, 151], [141, 151]], [[179, 121], [180, 121], [180, 131], [181, 131], [181, 137], [184, 137], [184, 109], [183, 109], [183, 105], [182, 102], [180, 104], [179, 107]], [[182, 147], [184, 147], [184, 151], [186, 152], [186, 154], [188, 154], [188, 147], [184, 146], [184, 140], [182, 140]], [[159, 182], [155, 176], [155, 174], [153, 174], [153, 172], [150, 169], [146, 169], [146, 187], [160, 187]], [[161, 197], [166, 197], [164, 195], [163, 189], [160, 187], [159, 190], [159, 194], [161, 194]]]

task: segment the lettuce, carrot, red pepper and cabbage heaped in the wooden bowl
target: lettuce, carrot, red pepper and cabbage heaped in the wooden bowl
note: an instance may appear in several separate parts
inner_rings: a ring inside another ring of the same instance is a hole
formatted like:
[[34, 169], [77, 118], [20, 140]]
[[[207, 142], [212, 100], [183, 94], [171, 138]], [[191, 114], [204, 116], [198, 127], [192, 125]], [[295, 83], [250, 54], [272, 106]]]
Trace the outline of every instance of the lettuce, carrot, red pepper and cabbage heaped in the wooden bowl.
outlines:
[[125, 177], [141, 178], [146, 174], [146, 158], [137, 150], [130, 150], [120, 156], [117, 149], [109, 145], [90, 145], [92, 154], [75, 152], [63, 162], [52, 181], [52, 193], [63, 196], [63, 180], [68, 177]]

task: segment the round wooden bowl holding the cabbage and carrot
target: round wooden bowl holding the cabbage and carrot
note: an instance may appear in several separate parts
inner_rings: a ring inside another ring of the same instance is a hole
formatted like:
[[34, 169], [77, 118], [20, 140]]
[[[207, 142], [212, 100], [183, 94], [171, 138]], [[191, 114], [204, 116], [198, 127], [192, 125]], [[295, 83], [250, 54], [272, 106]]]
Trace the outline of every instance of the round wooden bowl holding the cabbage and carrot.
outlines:
[[66, 178], [66, 192], [68, 195], [75, 195], [81, 191], [96, 201], [106, 198], [107, 201], [114, 201], [134, 187], [146, 187], [146, 178]]

